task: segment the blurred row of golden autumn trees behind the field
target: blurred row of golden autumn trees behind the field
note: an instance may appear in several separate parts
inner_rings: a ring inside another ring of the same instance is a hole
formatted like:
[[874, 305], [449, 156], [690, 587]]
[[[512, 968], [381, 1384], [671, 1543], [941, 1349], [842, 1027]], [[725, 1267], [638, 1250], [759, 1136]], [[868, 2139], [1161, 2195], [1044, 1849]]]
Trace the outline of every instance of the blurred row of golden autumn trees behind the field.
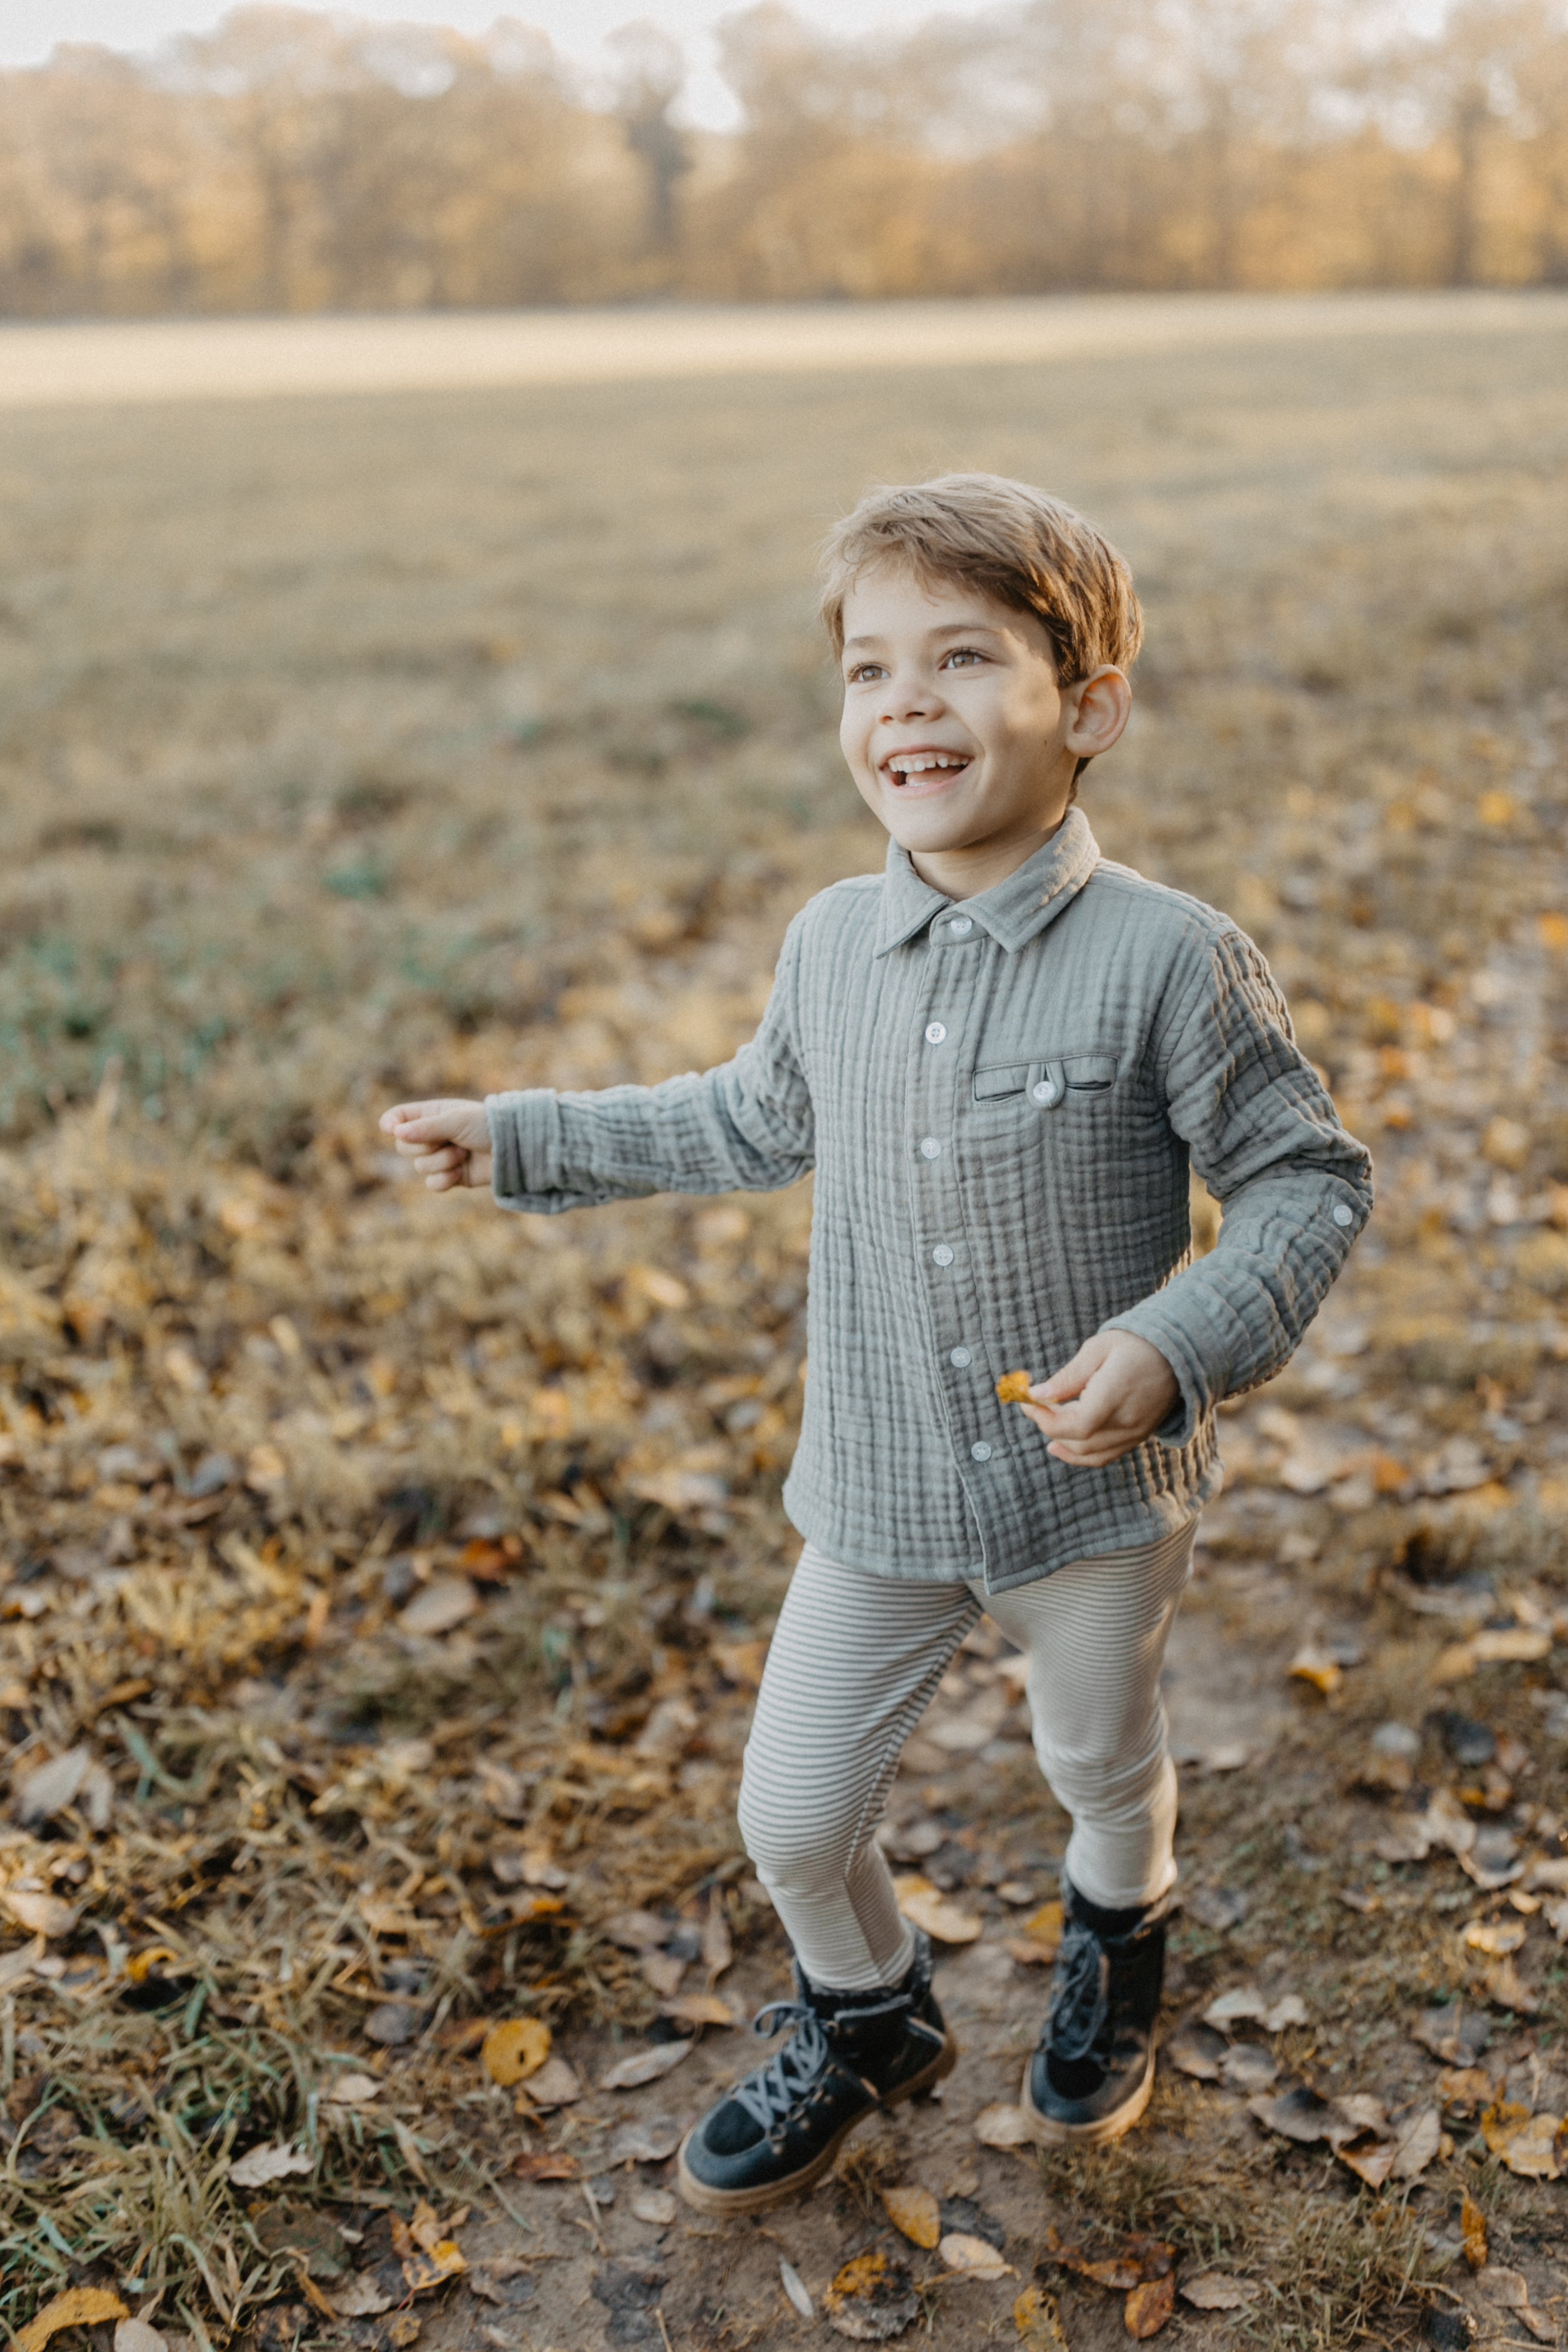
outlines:
[[1568, 0], [1023, 0], [719, 31], [237, 7], [0, 73], [12, 318], [1568, 282]]

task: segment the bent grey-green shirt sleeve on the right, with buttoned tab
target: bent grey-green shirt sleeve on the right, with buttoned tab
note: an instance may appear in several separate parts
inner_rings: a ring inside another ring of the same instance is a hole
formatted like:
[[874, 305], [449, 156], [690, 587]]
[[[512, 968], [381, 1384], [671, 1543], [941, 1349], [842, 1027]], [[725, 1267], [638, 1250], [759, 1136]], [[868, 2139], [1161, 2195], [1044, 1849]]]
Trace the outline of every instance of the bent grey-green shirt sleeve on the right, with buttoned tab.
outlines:
[[1234, 927], [1204, 941], [1157, 1056], [1171, 1127], [1220, 1202], [1220, 1240], [1105, 1329], [1135, 1331], [1171, 1364], [1180, 1404], [1157, 1437], [1182, 1446], [1220, 1397], [1291, 1359], [1371, 1216], [1373, 1162]]

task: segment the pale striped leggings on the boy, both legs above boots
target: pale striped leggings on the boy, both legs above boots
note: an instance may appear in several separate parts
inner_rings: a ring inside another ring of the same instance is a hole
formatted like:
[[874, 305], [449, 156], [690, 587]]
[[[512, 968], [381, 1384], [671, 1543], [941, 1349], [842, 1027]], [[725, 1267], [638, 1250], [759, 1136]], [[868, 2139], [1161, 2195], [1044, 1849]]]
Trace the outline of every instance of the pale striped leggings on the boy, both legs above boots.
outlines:
[[741, 1778], [741, 1835], [813, 1985], [891, 1985], [914, 1955], [875, 1842], [898, 1757], [985, 1611], [1030, 1661], [1034, 1755], [1072, 1813], [1067, 1875], [1110, 1910], [1175, 1882], [1159, 1670], [1194, 1526], [1013, 1592], [799, 1557]]

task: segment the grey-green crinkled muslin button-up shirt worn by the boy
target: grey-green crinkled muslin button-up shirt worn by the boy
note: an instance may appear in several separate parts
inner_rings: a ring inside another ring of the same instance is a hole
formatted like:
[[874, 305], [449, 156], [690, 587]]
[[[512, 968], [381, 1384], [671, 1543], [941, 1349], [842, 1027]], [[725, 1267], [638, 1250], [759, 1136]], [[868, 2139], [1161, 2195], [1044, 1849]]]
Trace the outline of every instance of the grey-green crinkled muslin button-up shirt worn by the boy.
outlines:
[[[1253, 941], [1103, 858], [1081, 809], [959, 903], [898, 844], [820, 891], [733, 1061], [487, 1112], [503, 1209], [816, 1169], [785, 1510], [846, 1566], [987, 1592], [1199, 1512], [1218, 1402], [1291, 1357], [1373, 1197]], [[1222, 1207], [1197, 1261], [1190, 1167]], [[997, 1381], [1107, 1329], [1152, 1341], [1180, 1402], [1081, 1470]]]

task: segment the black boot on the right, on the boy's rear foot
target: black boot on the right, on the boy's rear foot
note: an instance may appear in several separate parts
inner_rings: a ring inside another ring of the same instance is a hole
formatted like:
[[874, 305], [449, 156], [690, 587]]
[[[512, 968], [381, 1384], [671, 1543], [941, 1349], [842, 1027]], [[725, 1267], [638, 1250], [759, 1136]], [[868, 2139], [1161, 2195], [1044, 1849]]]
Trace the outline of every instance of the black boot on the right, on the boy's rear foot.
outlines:
[[1150, 2105], [1168, 1898], [1100, 1910], [1063, 1879], [1051, 2013], [1023, 2077], [1046, 2147], [1119, 2140]]

